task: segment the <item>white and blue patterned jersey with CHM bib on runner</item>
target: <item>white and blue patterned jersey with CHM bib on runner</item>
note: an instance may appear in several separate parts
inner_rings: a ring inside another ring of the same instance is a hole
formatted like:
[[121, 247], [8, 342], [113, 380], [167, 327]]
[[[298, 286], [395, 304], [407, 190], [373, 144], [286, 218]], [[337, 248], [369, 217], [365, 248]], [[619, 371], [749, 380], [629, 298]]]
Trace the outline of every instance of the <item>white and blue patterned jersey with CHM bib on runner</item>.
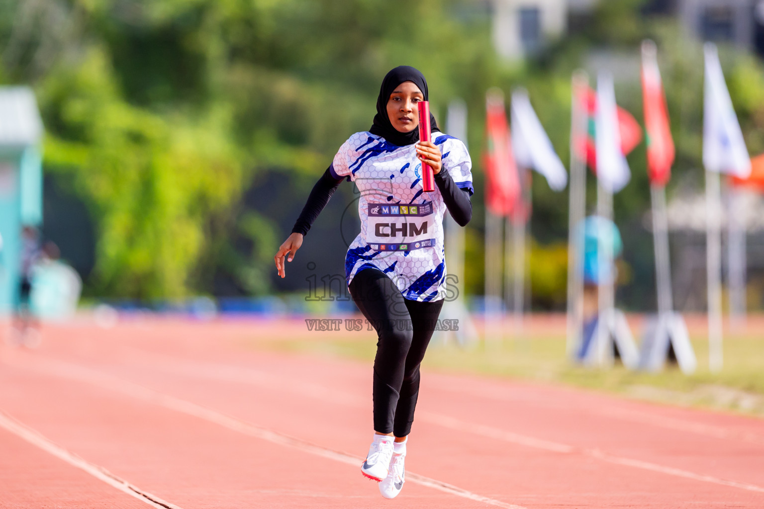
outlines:
[[[442, 170], [459, 188], [474, 192], [472, 163], [464, 143], [432, 133], [442, 153]], [[332, 176], [358, 187], [361, 233], [345, 257], [348, 285], [358, 271], [373, 267], [395, 282], [403, 298], [437, 301], [445, 295], [443, 214], [440, 189], [422, 191], [422, 163], [412, 145], [398, 147], [368, 132], [353, 134], [337, 152]]]

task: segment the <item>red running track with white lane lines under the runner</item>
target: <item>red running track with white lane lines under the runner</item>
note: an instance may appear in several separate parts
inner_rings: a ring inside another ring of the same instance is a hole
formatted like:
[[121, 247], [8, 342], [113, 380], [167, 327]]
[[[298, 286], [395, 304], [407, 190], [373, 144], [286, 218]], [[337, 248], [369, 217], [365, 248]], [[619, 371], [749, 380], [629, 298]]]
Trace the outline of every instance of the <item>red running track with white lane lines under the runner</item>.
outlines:
[[[764, 421], [424, 372], [394, 501], [371, 366], [274, 322], [48, 328], [0, 350], [0, 507], [764, 507]], [[371, 337], [368, 340], [373, 340]]]

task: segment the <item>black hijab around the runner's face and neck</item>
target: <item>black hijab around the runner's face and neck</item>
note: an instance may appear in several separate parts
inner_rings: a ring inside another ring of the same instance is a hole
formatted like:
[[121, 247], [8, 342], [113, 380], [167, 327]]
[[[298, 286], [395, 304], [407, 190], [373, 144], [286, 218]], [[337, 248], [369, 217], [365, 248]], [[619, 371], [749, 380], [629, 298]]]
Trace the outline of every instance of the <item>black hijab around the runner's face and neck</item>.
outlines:
[[[390, 124], [390, 118], [387, 118], [387, 101], [390, 100], [390, 94], [403, 82], [413, 82], [422, 91], [425, 101], [429, 101], [427, 98], [427, 80], [424, 75], [411, 66], [397, 66], [388, 72], [382, 80], [380, 95], [377, 97], [377, 114], [374, 115], [374, 124], [369, 129], [371, 134], [381, 136], [398, 147], [419, 141], [418, 127], [410, 133], [402, 133], [393, 127], [393, 124]], [[435, 117], [432, 116], [432, 113], [430, 113], [430, 130], [440, 130], [438, 124], [435, 124]]]

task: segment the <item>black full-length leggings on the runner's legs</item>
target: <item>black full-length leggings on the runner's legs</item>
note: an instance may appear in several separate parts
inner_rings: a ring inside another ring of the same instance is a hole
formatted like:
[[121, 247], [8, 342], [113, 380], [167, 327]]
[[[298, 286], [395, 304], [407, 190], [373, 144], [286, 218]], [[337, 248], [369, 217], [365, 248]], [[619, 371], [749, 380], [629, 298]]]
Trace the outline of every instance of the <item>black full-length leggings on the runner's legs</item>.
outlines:
[[350, 293], [379, 337], [374, 358], [374, 431], [406, 437], [419, 395], [419, 364], [443, 301], [407, 300], [379, 269], [358, 272]]

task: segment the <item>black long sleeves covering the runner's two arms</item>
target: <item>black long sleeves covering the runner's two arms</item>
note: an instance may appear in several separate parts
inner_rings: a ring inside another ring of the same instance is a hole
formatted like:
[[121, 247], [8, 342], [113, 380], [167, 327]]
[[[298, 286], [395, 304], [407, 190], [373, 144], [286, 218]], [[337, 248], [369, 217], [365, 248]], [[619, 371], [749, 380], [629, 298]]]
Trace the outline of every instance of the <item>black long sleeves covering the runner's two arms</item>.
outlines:
[[[329, 168], [326, 169], [316, 185], [313, 186], [303, 211], [297, 217], [292, 228], [293, 234], [306, 235], [308, 233], [313, 221], [316, 221], [316, 217], [319, 217], [321, 211], [329, 203], [329, 198], [332, 198], [342, 180], [344, 179], [335, 179]], [[472, 202], [468, 190], [458, 188], [454, 179], [445, 169], [441, 169], [435, 175], [435, 185], [440, 189], [443, 202], [456, 223], [459, 226], [468, 224], [472, 218]]]

